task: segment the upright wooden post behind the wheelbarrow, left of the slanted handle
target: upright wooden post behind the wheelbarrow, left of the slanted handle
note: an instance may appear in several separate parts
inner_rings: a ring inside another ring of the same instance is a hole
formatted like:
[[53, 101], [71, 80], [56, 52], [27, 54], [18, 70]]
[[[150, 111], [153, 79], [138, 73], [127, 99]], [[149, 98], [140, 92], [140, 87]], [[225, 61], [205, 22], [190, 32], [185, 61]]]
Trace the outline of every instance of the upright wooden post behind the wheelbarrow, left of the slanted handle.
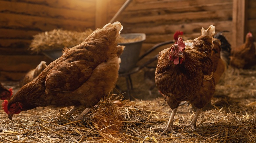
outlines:
[[96, 0], [95, 29], [104, 26], [108, 20], [109, 0]]

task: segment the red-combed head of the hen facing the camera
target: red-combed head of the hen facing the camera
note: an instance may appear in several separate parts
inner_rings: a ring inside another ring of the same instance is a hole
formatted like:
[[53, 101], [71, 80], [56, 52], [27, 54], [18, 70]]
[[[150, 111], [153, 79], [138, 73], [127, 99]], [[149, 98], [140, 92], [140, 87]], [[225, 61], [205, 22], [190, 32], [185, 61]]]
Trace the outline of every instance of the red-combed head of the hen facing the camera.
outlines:
[[174, 44], [171, 46], [171, 50], [169, 52], [169, 59], [173, 61], [175, 65], [178, 65], [179, 63], [182, 64], [183, 60], [185, 59], [185, 43], [181, 39], [181, 37], [178, 38], [177, 41], [178, 44]]

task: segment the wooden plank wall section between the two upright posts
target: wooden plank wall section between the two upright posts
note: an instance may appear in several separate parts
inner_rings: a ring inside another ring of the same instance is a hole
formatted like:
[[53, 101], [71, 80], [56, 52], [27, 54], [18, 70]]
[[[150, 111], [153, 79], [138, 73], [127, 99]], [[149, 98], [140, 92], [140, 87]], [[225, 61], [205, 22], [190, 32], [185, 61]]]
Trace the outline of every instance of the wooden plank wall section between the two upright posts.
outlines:
[[172, 40], [177, 30], [193, 39], [200, 35], [202, 27], [211, 24], [216, 26], [216, 32], [230, 31], [225, 35], [232, 40], [232, 0], [133, 0], [117, 20], [124, 26], [123, 33], [146, 34], [141, 53], [156, 43]]

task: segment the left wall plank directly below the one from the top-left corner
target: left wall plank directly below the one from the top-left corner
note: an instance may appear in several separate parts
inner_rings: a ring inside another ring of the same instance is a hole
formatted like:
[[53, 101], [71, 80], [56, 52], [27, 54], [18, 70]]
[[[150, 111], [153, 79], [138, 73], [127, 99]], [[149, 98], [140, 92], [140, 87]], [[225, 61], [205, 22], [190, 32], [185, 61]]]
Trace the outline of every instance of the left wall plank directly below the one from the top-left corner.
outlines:
[[88, 19], [88, 21], [63, 20], [12, 13], [0, 13], [0, 17], [0, 28], [8, 27], [41, 31], [55, 28], [84, 31], [87, 28], [94, 28], [94, 19]]

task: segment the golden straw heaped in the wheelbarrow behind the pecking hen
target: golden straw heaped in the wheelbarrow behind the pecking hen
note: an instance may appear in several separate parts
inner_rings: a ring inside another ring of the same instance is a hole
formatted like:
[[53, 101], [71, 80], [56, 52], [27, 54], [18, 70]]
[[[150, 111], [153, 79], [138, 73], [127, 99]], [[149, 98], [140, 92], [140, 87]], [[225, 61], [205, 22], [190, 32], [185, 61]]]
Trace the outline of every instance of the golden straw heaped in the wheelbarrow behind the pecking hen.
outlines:
[[[45, 50], [63, 49], [64, 47], [71, 48], [82, 43], [92, 33], [92, 29], [86, 29], [84, 32], [53, 29], [34, 35], [29, 49], [39, 53]], [[117, 42], [129, 43], [139, 40], [142, 40], [142, 37], [128, 39], [120, 36]]]

